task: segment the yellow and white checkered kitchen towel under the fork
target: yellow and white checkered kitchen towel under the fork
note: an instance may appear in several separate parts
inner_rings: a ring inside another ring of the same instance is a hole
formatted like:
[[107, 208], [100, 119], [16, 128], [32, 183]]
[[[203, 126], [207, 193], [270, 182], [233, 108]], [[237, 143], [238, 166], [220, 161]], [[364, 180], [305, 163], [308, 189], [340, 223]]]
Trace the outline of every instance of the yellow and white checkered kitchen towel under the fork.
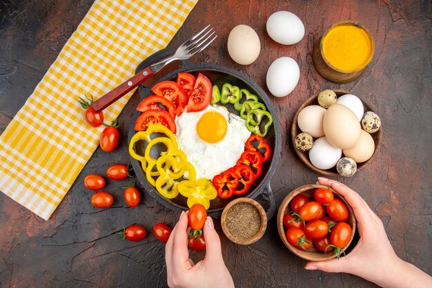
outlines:
[[[77, 102], [165, 48], [198, 0], [97, 0], [0, 136], [0, 191], [48, 220], [99, 144]], [[133, 91], [104, 110], [117, 118]]]

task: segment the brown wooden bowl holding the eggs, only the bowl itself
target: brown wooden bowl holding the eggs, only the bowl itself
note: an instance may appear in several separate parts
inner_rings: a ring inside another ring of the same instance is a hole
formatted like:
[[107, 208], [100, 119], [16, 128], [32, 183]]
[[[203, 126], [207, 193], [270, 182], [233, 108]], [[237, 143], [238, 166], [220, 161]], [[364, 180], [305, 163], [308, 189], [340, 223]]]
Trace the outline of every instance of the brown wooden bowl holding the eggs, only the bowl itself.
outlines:
[[[345, 94], [350, 94], [350, 92], [347, 91], [347, 90], [335, 89], [333, 91], [335, 91], [337, 97], [345, 95]], [[368, 104], [365, 104], [363, 100], [362, 100], [362, 102], [363, 102], [364, 112], [365, 113], [366, 113], [366, 111], [373, 111]], [[298, 117], [300, 111], [302, 111], [302, 109], [304, 107], [309, 106], [309, 105], [319, 105], [318, 104], [318, 94], [315, 94], [315, 95], [309, 97], [302, 104], [302, 106], [300, 106], [300, 108], [297, 110], [297, 112], [294, 115], [293, 124], [291, 125], [291, 141], [293, 142], [295, 153], [297, 153], [297, 155], [300, 157], [300, 160], [302, 160], [302, 162], [304, 164], [306, 164], [306, 166], [308, 166], [313, 171], [315, 171], [317, 173], [320, 173], [322, 175], [326, 175], [326, 176], [342, 177], [339, 173], [337, 173], [336, 166], [333, 167], [332, 169], [327, 169], [327, 170], [318, 169], [317, 167], [313, 166], [313, 164], [311, 163], [311, 160], [309, 160], [309, 152], [308, 151], [300, 151], [299, 149], [295, 148], [295, 143], [294, 143], [295, 142], [295, 137], [299, 133], [302, 132], [300, 130], [299, 126], [297, 125], [297, 117]], [[378, 148], [380, 148], [381, 141], [382, 141], [382, 139], [381, 139], [382, 138], [382, 126], [380, 127], [380, 130], [378, 130], [375, 133], [372, 133], [371, 136], [373, 138], [373, 142], [375, 142], [375, 151], [373, 151], [373, 155], [371, 156], [371, 158], [369, 158], [369, 160], [367, 160], [366, 162], [357, 163], [357, 172], [355, 172], [355, 173], [358, 173], [359, 171], [361, 171], [364, 168], [366, 168], [366, 166], [368, 166], [369, 163], [372, 162], [372, 160], [375, 157], [375, 155], [377, 155]], [[344, 157], [343, 154], [342, 154], [342, 157]]]

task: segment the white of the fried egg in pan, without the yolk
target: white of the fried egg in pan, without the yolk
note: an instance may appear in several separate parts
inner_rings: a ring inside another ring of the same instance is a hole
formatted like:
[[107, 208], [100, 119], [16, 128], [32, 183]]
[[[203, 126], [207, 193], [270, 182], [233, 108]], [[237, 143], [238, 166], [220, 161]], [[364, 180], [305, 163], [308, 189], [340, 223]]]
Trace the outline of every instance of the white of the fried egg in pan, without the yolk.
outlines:
[[[224, 139], [217, 143], [208, 143], [199, 138], [197, 122], [204, 113], [215, 111], [221, 113], [228, 124]], [[184, 112], [175, 120], [177, 125], [177, 142], [179, 149], [186, 153], [188, 162], [193, 164], [197, 179], [212, 180], [215, 175], [235, 166], [244, 151], [244, 143], [251, 136], [246, 128], [246, 121], [228, 112], [223, 106], [208, 106], [199, 112]]]

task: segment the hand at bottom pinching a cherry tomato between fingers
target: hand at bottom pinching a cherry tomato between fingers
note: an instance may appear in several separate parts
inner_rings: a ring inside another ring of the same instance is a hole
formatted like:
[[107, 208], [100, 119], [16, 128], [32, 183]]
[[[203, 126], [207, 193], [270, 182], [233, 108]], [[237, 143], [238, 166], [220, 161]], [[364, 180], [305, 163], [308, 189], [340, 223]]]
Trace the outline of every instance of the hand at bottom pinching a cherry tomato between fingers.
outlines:
[[188, 212], [181, 212], [179, 222], [171, 232], [165, 247], [168, 286], [171, 288], [234, 287], [233, 278], [222, 258], [221, 242], [212, 218], [207, 217], [203, 229], [206, 256], [195, 265], [189, 258], [187, 229]]

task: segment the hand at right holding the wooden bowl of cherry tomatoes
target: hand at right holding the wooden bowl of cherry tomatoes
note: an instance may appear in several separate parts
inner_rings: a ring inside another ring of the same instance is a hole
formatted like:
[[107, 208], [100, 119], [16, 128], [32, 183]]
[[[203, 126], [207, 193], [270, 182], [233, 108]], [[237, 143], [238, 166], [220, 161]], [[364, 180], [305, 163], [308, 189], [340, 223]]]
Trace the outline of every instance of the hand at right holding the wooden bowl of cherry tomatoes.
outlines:
[[384, 225], [360, 195], [335, 180], [318, 177], [322, 185], [330, 186], [353, 208], [360, 240], [347, 256], [322, 262], [308, 262], [305, 269], [345, 272], [360, 276], [382, 287], [432, 287], [432, 278], [397, 257]]

